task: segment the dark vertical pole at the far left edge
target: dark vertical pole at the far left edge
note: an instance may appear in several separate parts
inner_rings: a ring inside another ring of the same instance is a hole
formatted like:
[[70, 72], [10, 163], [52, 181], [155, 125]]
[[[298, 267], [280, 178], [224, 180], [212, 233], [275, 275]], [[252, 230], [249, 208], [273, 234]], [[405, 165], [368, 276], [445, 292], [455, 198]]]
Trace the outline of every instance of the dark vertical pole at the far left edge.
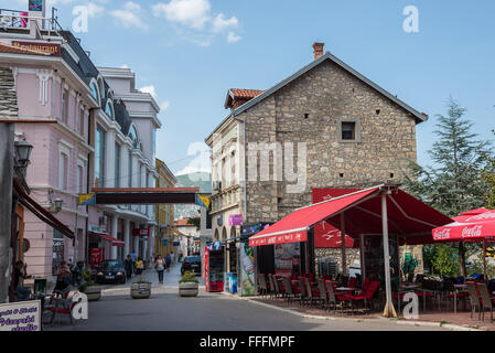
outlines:
[[12, 250], [13, 124], [0, 122], [0, 303], [8, 302]]

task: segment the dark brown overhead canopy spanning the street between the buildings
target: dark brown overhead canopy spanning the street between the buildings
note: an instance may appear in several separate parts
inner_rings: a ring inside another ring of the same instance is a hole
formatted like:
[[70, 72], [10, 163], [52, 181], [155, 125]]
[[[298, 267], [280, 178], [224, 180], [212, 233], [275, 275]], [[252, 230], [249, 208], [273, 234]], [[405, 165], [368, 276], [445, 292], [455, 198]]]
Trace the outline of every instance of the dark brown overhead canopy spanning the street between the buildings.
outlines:
[[[94, 188], [96, 204], [195, 203], [200, 188]], [[204, 193], [202, 193], [204, 194]]]

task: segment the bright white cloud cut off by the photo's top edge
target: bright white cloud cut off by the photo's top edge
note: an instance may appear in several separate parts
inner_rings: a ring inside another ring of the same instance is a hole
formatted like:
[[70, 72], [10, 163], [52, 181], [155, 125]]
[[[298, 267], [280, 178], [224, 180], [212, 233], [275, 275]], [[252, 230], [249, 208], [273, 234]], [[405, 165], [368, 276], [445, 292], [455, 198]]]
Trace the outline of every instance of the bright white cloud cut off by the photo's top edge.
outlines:
[[153, 12], [155, 17], [201, 30], [209, 20], [211, 8], [208, 0], [171, 0], [154, 4]]

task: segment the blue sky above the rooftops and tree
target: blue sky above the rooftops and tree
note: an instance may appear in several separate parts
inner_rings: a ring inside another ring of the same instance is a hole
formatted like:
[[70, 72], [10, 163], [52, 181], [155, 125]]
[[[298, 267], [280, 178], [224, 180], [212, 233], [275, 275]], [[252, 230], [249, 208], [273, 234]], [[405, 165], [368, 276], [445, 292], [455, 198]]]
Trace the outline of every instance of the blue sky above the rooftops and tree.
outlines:
[[[0, 0], [25, 8], [28, 0]], [[266, 89], [312, 61], [325, 43], [356, 71], [430, 116], [417, 128], [418, 159], [435, 139], [437, 114], [450, 96], [483, 139], [495, 128], [495, 1], [461, 0], [52, 0], [68, 29], [75, 6], [88, 6], [87, 33], [76, 33], [100, 66], [127, 65], [137, 87], [164, 108], [158, 157], [172, 171], [194, 165], [203, 142], [228, 111], [228, 88]], [[406, 33], [415, 6], [419, 32]], [[198, 145], [196, 145], [198, 146]], [[192, 164], [191, 164], [192, 163]]]

